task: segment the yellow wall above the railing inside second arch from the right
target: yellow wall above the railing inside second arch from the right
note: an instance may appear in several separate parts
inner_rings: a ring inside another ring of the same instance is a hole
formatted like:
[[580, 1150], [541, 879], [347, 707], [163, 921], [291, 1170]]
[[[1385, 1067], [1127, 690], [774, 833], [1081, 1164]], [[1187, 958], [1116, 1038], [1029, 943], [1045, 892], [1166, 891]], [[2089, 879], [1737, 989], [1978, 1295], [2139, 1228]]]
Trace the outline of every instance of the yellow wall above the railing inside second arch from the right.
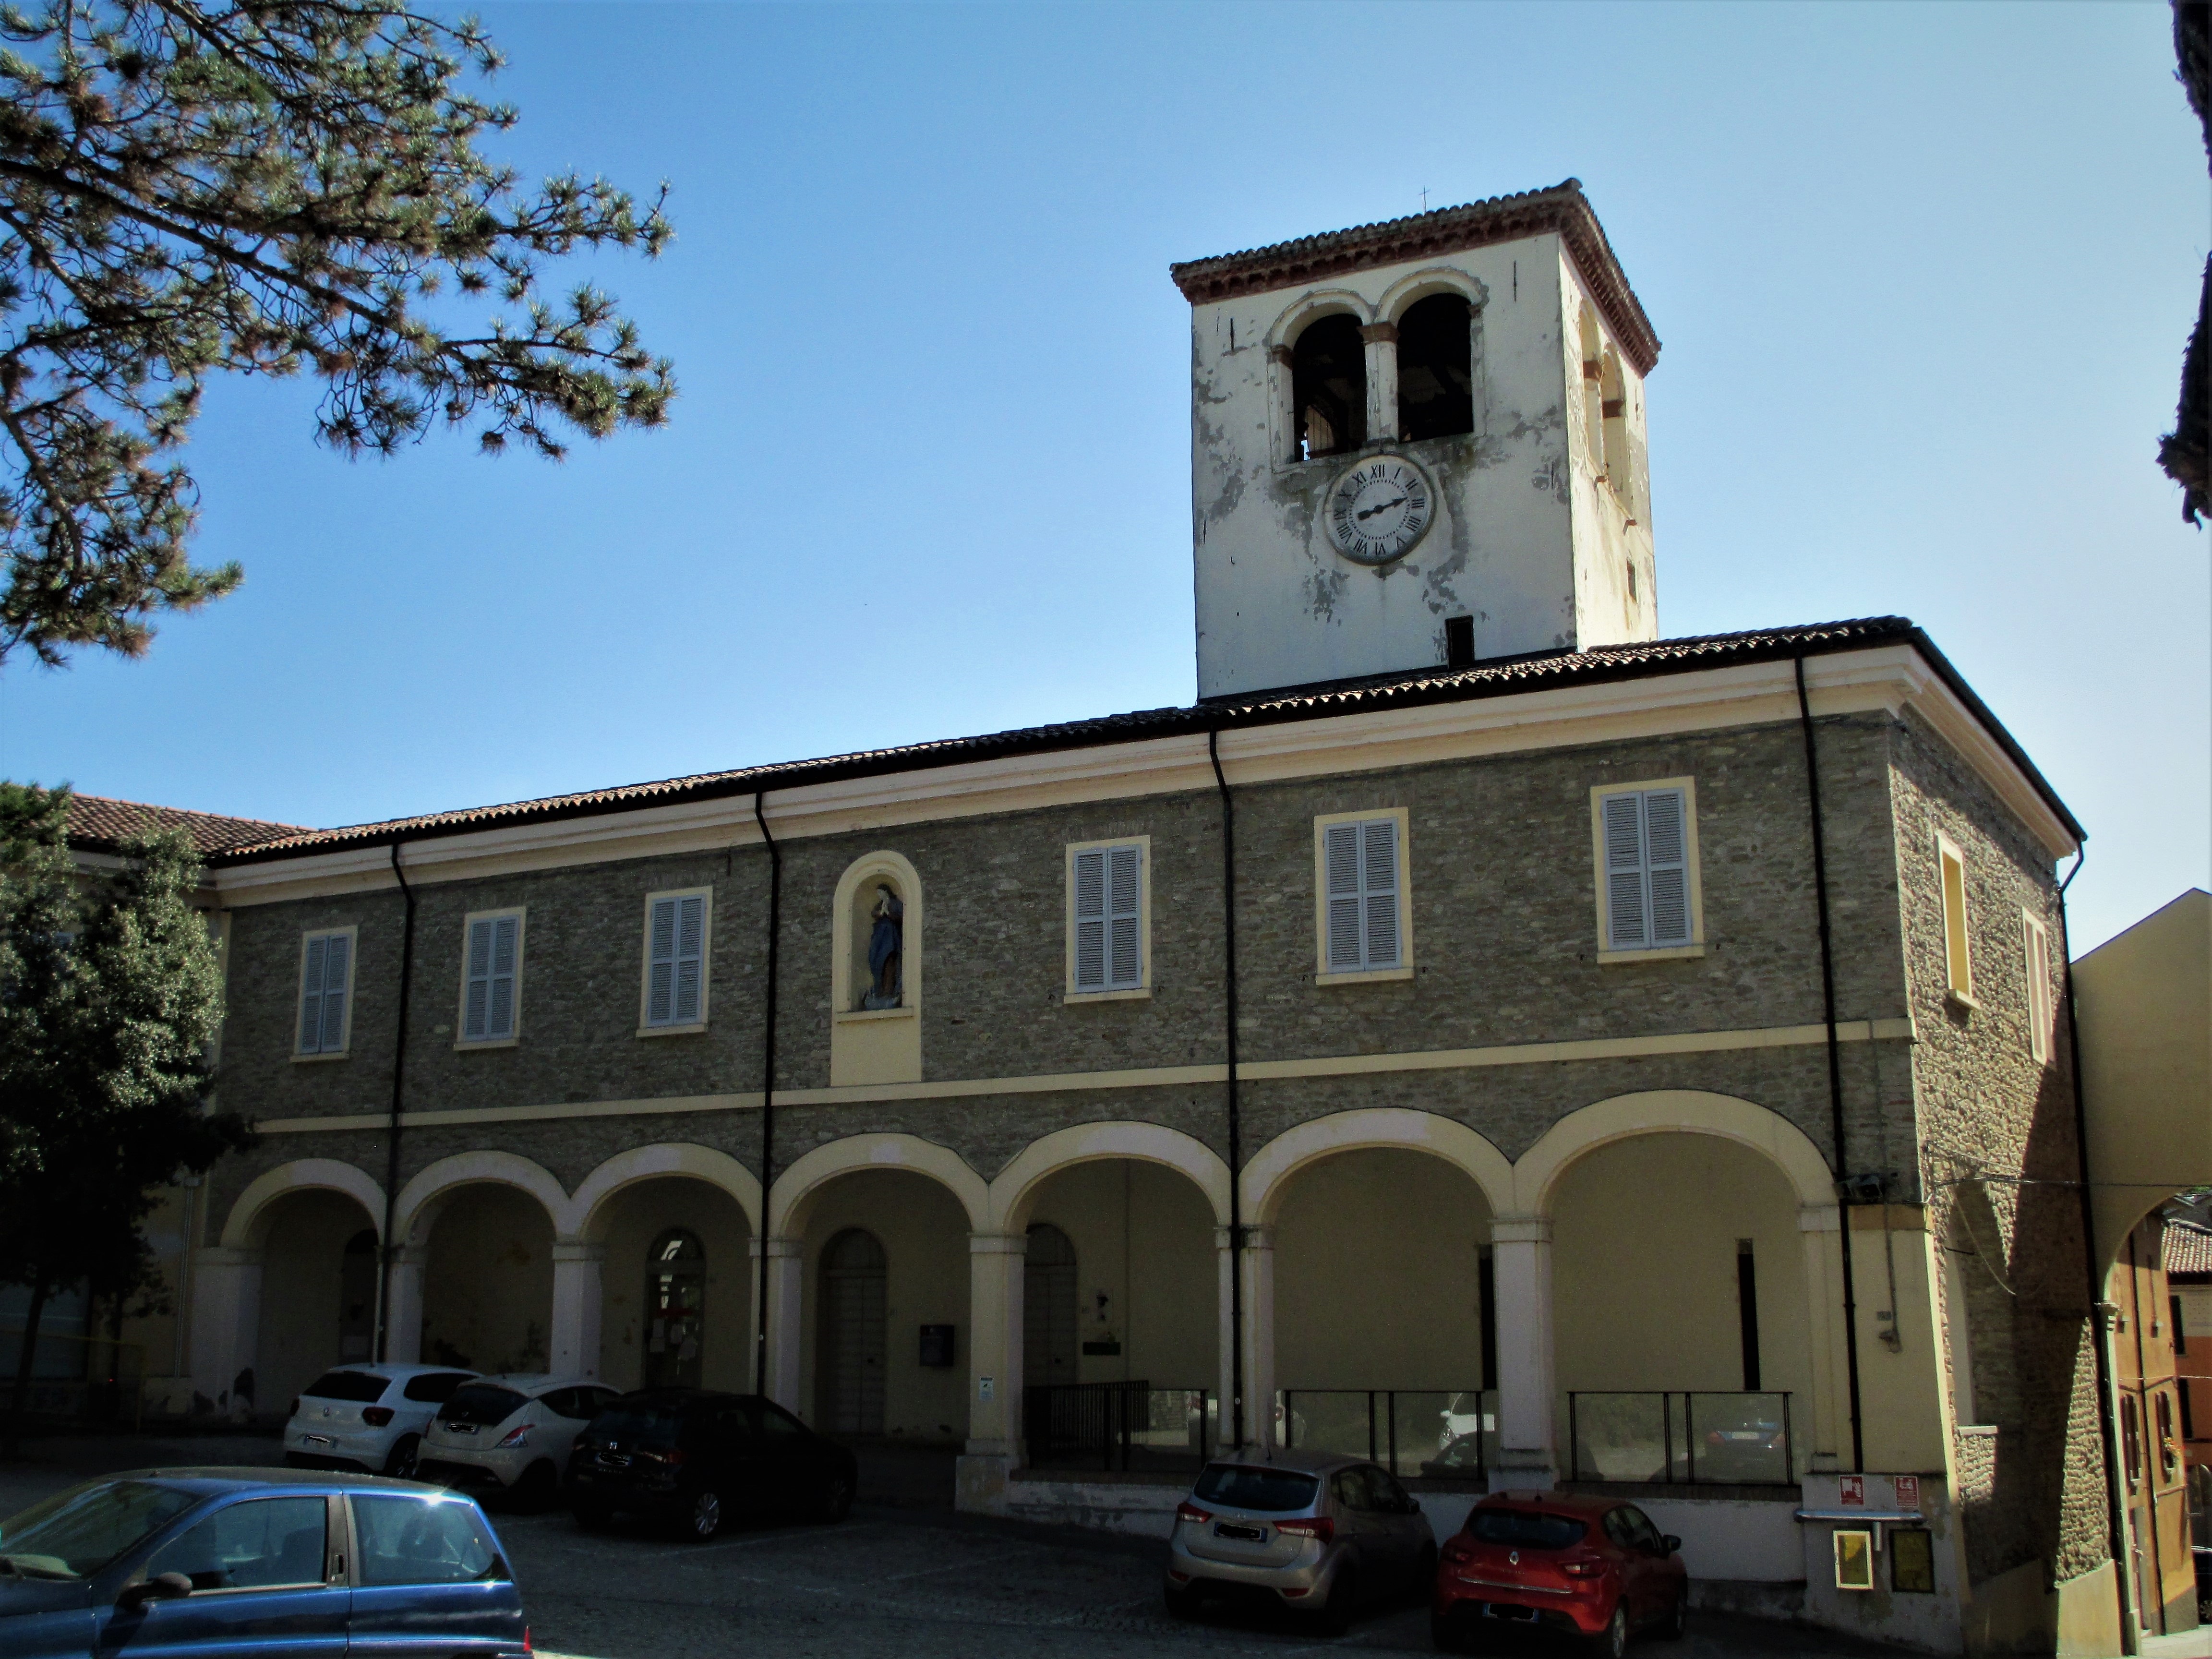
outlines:
[[1482, 1387], [1489, 1206], [1427, 1152], [1338, 1152], [1292, 1177], [1274, 1234], [1279, 1389]]

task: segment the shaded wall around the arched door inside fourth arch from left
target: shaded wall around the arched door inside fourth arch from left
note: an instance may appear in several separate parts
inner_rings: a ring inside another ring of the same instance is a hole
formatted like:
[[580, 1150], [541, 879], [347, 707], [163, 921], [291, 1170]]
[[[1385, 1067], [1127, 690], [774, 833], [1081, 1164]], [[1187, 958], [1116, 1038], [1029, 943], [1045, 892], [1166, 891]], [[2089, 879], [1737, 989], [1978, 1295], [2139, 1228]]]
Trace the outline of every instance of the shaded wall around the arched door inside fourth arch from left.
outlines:
[[[823, 1188], [805, 1234], [805, 1347], [799, 1360], [801, 1416], [814, 1420], [814, 1363], [823, 1248], [845, 1228], [883, 1241], [885, 1383], [883, 1429], [914, 1440], [967, 1438], [969, 1219], [927, 1175], [860, 1170]], [[953, 1325], [953, 1365], [922, 1367], [920, 1327]]]

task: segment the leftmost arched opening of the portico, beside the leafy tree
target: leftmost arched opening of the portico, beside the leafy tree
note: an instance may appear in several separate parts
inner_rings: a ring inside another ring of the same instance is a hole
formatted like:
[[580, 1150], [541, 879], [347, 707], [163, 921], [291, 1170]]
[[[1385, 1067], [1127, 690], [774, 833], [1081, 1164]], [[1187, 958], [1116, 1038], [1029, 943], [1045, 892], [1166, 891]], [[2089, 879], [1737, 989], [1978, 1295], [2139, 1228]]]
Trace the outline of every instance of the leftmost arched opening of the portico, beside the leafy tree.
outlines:
[[[261, 1234], [261, 1316], [254, 1409], [290, 1411], [292, 1396], [341, 1360], [367, 1360], [376, 1329], [376, 1228], [345, 1192], [310, 1188], [274, 1199]], [[223, 1378], [230, 1383], [230, 1378]]]

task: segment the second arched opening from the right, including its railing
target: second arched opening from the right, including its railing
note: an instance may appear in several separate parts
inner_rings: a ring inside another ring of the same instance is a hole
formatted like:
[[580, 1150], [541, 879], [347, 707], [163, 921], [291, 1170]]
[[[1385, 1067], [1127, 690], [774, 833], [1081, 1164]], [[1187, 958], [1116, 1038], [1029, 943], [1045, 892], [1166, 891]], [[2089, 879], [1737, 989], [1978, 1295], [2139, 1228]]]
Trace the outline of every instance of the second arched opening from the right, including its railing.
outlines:
[[1433, 1152], [1367, 1146], [1296, 1170], [1274, 1217], [1283, 1444], [1400, 1475], [1480, 1469], [1495, 1431], [1482, 1188]]

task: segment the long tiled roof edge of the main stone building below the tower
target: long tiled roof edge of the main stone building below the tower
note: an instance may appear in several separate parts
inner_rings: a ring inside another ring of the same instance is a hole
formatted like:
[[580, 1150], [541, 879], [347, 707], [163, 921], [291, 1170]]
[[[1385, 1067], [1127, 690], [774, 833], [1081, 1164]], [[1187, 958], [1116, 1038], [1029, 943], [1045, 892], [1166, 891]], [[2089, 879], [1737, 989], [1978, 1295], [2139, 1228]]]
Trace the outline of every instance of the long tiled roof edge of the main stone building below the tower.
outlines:
[[[668, 807], [688, 801], [792, 790], [812, 783], [841, 783], [845, 779], [883, 776], [894, 772], [927, 772], [940, 765], [967, 765], [1015, 754], [1048, 754], [1060, 750], [1102, 748], [1106, 743], [1135, 743], [1159, 737], [1232, 732], [1254, 726], [1285, 726], [1294, 721], [1332, 719], [1338, 714], [1369, 714], [1391, 708], [1455, 703], [1482, 697], [1515, 697], [1559, 686], [1593, 686], [1621, 679], [1730, 668], [1739, 664], [1823, 657], [1840, 650], [1889, 644], [1911, 644], [1929, 661], [1929, 666], [2004, 748], [2006, 757], [2011, 757], [2011, 761], [2022, 770], [2068, 832], [2075, 838], [2081, 838], [2081, 825], [2077, 825], [2073, 814], [2066, 812], [2057, 792], [2035, 770], [2026, 752], [1997, 723], [1997, 717], [1991, 714], [1982, 699], [1973, 695], [1964, 679], [1960, 679], [1958, 670], [1951, 668], [1940, 650], [1936, 650], [1933, 641], [1905, 617], [1865, 617], [1858, 622], [1827, 622], [1809, 628], [1763, 628], [1756, 633], [1705, 635], [1697, 639], [1655, 639], [1630, 646], [1546, 650], [1528, 657], [1480, 661], [1473, 668], [1418, 668], [1398, 675], [1332, 681], [1325, 686], [1294, 686], [1287, 690], [1214, 697], [1190, 708], [1150, 708], [1133, 714], [1108, 714], [1088, 721], [1029, 726], [1011, 732], [991, 732], [987, 737], [956, 737], [936, 743], [911, 743], [905, 748], [858, 750], [854, 754], [834, 754], [818, 761], [783, 761], [776, 765], [739, 768], [732, 772], [699, 772], [692, 776], [661, 779], [657, 783], [630, 783], [613, 790], [584, 790], [577, 794], [542, 796], [538, 801], [462, 807], [456, 812], [427, 812], [411, 818], [385, 818], [380, 823], [358, 823], [343, 830], [292, 830], [252, 843], [232, 843], [210, 854], [210, 863], [239, 865], [261, 863], [268, 858], [296, 858], [321, 852], [338, 852], [343, 847], [467, 834], [471, 830], [582, 818], [604, 812]], [[243, 821], [230, 818], [223, 823]]]

